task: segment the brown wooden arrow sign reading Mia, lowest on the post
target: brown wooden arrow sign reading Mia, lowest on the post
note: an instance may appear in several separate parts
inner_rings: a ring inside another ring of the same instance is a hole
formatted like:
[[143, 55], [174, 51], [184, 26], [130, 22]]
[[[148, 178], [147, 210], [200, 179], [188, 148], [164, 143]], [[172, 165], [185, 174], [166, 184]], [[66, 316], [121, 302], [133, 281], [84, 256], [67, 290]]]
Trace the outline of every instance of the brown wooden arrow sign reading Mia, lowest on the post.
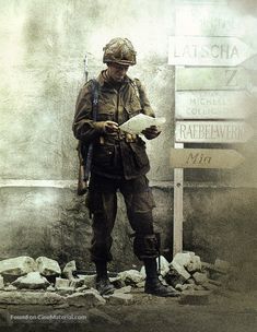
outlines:
[[170, 163], [173, 168], [235, 168], [244, 157], [235, 150], [172, 149]]

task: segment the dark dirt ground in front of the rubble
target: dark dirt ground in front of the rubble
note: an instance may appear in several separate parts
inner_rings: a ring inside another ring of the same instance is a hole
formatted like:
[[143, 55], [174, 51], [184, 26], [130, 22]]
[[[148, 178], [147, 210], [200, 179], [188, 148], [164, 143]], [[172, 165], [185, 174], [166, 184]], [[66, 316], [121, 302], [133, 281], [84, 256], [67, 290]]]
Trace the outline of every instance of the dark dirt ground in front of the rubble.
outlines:
[[[9, 312], [0, 331], [19, 332], [256, 332], [257, 292], [211, 294], [208, 305], [180, 305], [177, 298], [159, 298], [133, 290], [135, 303], [96, 309], [52, 306], [1, 306]], [[95, 313], [95, 310], [97, 315]], [[102, 316], [105, 317], [103, 318]], [[24, 318], [13, 318], [24, 316]], [[31, 318], [30, 318], [31, 316]], [[32, 317], [33, 316], [33, 317]], [[35, 319], [35, 317], [39, 317]], [[44, 317], [44, 319], [42, 319]]]

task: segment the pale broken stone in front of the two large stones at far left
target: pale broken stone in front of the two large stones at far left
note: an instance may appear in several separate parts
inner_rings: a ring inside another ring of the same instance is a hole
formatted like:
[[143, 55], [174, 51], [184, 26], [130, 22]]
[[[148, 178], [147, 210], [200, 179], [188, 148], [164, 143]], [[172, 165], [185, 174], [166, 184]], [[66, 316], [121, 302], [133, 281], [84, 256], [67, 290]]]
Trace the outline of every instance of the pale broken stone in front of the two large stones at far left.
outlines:
[[30, 272], [25, 276], [20, 276], [12, 285], [17, 288], [46, 289], [49, 286], [49, 282], [39, 272]]

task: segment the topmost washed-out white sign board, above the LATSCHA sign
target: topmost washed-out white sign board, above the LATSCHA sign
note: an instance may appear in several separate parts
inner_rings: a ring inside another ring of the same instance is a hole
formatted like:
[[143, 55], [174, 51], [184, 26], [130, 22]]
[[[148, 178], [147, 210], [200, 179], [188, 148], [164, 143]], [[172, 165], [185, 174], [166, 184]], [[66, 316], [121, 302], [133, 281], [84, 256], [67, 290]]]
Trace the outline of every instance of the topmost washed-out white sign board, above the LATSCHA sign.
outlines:
[[176, 35], [238, 36], [244, 33], [242, 20], [225, 4], [180, 4], [176, 7]]

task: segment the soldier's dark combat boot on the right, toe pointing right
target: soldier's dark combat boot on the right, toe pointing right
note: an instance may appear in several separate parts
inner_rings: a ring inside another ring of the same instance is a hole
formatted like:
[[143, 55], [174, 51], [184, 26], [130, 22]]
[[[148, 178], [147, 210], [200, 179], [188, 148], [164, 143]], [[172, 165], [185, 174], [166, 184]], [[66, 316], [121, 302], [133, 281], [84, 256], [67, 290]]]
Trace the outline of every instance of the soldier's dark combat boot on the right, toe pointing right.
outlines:
[[144, 260], [145, 266], [145, 285], [144, 293], [161, 296], [161, 297], [178, 297], [180, 294], [172, 286], [165, 286], [161, 283], [157, 276], [157, 264], [153, 258]]

